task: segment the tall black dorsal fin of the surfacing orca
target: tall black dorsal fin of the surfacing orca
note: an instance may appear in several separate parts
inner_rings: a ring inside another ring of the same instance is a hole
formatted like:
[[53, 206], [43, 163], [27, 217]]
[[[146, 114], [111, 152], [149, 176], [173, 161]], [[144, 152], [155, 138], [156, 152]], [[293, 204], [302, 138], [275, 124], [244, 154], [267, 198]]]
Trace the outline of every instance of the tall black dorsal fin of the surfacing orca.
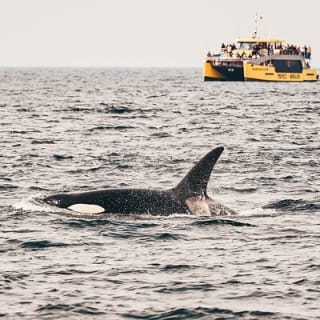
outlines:
[[173, 189], [180, 199], [207, 195], [210, 174], [223, 149], [218, 147], [206, 154]]

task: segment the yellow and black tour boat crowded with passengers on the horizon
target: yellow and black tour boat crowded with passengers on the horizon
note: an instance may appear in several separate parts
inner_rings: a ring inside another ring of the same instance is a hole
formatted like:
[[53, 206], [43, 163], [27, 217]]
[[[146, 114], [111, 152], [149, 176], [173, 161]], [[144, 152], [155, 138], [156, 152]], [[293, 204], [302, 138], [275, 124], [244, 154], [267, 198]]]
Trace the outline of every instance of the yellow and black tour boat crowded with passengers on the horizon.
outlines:
[[208, 53], [203, 65], [205, 81], [317, 81], [310, 67], [310, 47], [288, 46], [282, 39], [240, 38], [237, 44]]

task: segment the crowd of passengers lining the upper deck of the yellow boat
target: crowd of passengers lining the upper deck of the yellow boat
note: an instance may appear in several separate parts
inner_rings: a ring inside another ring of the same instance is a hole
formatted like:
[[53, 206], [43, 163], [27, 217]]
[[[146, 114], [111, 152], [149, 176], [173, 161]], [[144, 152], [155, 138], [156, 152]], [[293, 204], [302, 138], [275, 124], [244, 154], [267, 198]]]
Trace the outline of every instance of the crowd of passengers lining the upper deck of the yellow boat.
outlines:
[[233, 44], [224, 44], [221, 45], [220, 53], [212, 54], [210, 51], [208, 52], [208, 57], [220, 57], [220, 58], [238, 58], [238, 59], [254, 59], [267, 55], [273, 54], [293, 54], [293, 55], [302, 55], [305, 59], [311, 59], [311, 47], [297, 46], [297, 45], [282, 45], [280, 44], [272, 44], [272, 43], [252, 43], [252, 47], [250, 48], [250, 53], [248, 54], [247, 49], [237, 48], [237, 46]]

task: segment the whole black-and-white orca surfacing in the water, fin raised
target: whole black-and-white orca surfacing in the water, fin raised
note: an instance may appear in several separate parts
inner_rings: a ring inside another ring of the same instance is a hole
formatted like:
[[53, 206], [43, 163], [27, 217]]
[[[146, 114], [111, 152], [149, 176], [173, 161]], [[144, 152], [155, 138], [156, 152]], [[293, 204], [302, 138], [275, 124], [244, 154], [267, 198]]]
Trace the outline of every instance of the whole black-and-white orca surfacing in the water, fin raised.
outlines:
[[206, 154], [174, 188], [104, 189], [55, 194], [44, 202], [79, 213], [233, 215], [235, 211], [207, 195], [207, 185], [223, 147]]

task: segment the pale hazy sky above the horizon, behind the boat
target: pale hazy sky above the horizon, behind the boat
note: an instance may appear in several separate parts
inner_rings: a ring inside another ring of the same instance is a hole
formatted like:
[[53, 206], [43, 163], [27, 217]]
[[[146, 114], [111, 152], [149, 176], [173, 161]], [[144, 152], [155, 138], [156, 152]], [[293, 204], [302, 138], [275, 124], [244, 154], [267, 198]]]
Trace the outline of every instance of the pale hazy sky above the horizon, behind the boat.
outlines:
[[319, 0], [0, 0], [0, 66], [202, 67], [208, 50], [254, 31], [311, 45]]

